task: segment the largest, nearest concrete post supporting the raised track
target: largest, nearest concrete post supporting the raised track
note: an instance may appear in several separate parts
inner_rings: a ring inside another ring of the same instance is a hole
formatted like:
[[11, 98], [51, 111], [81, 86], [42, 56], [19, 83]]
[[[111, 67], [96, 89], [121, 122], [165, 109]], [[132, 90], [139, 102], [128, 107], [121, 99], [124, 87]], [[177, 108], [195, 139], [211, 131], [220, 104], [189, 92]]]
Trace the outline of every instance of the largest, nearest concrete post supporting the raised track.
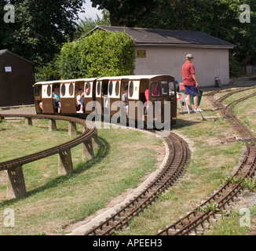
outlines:
[[27, 195], [22, 166], [7, 170], [7, 198], [21, 198]]

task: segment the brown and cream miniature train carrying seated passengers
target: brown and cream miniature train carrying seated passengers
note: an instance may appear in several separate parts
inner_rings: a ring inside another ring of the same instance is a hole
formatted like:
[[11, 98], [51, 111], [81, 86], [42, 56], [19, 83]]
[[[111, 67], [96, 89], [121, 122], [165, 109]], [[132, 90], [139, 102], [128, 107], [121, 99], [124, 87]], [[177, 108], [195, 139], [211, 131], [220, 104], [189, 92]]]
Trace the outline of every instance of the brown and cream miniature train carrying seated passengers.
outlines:
[[[80, 78], [34, 85], [35, 110], [38, 114], [126, 116], [129, 120], [176, 123], [177, 96], [175, 79], [168, 75], [130, 75], [104, 78]], [[60, 107], [54, 99], [59, 89]], [[77, 113], [76, 96], [82, 89], [83, 114]], [[123, 103], [126, 93], [128, 104]], [[58, 110], [58, 108], [60, 108]]]

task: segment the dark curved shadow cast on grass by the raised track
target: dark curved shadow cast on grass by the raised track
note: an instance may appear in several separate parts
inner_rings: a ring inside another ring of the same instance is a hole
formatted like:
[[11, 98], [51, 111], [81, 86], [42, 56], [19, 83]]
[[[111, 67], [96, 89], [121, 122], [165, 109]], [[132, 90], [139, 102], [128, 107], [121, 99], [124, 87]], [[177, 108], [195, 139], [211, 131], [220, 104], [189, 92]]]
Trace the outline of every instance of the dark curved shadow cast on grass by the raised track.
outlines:
[[32, 191], [28, 191], [26, 197], [5, 200], [0, 203], [0, 206], [9, 206], [12, 205], [13, 203], [24, 200], [31, 195], [35, 195], [42, 191], [46, 191], [49, 188], [57, 187], [59, 184], [71, 180], [78, 176], [80, 173], [84, 173], [86, 170], [92, 168], [97, 162], [100, 162], [102, 159], [105, 158], [105, 156], [109, 154], [110, 145], [106, 140], [104, 140], [101, 137], [98, 137], [98, 144], [99, 147], [97, 148], [97, 154], [95, 155], [95, 158], [87, 160], [86, 162], [79, 162], [79, 164], [76, 165], [76, 168], [74, 169], [74, 173], [58, 176], [56, 179], [50, 180], [47, 184], [43, 185], [42, 187], [38, 187]]

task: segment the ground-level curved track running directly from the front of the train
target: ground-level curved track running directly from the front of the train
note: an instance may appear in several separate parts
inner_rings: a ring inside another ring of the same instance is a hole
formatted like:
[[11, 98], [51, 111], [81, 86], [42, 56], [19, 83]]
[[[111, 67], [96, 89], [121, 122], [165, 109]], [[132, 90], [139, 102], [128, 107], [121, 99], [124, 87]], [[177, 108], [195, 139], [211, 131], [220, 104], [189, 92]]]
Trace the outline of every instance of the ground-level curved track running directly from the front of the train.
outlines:
[[188, 145], [174, 133], [170, 133], [165, 140], [170, 150], [169, 156], [166, 165], [155, 178], [155, 181], [149, 184], [140, 195], [128, 202], [126, 206], [123, 206], [118, 212], [84, 235], [112, 235], [113, 231], [121, 230], [185, 172], [184, 166], [190, 158]]

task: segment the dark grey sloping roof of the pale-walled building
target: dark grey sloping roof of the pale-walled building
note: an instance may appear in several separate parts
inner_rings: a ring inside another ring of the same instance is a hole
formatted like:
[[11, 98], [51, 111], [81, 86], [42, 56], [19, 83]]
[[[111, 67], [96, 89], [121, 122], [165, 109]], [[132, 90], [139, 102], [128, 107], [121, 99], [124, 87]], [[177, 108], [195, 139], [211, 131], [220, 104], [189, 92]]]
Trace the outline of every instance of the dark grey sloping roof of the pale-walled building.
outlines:
[[[96, 29], [104, 31], [126, 31], [133, 37], [137, 45], [179, 45], [179, 46], [213, 46], [233, 48], [230, 42], [220, 38], [215, 38], [202, 31], [183, 31], [183, 30], [160, 30], [138, 27], [113, 27], [98, 25]], [[91, 31], [91, 32], [92, 32]]]

